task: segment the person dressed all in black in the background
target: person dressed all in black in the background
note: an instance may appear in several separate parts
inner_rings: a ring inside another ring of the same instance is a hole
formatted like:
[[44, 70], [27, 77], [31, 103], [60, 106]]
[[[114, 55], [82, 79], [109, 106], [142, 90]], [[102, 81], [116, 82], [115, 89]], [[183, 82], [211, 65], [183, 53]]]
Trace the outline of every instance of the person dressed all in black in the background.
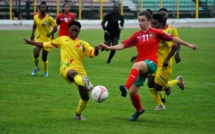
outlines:
[[[105, 25], [107, 22], [107, 25]], [[124, 17], [119, 13], [119, 6], [117, 4], [113, 5], [113, 11], [106, 14], [101, 22], [102, 28], [104, 29], [104, 44], [108, 46], [115, 46], [118, 44], [120, 39], [120, 33], [124, 26]], [[110, 64], [113, 56], [115, 55], [115, 50], [110, 51], [107, 63]]]

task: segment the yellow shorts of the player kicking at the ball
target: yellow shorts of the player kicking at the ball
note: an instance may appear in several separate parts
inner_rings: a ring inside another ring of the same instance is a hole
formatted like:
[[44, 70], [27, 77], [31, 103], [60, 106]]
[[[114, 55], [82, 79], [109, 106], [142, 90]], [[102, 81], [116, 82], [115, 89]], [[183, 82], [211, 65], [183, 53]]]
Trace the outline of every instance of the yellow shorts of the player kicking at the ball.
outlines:
[[67, 73], [68, 73], [68, 71], [70, 70], [70, 69], [72, 69], [72, 70], [76, 70], [77, 72], [78, 72], [78, 74], [79, 75], [81, 75], [81, 76], [87, 76], [87, 74], [86, 74], [86, 71], [85, 70], [78, 70], [78, 69], [74, 69], [74, 68], [72, 68], [72, 67], [61, 67], [60, 68], [60, 74], [62, 75], [62, 77], [68, 82], [68, 83], [70, 83], [70, 84], [72, 84], [73, 83], [73, 81], [70, 81], [68, 78], [67, 78]]

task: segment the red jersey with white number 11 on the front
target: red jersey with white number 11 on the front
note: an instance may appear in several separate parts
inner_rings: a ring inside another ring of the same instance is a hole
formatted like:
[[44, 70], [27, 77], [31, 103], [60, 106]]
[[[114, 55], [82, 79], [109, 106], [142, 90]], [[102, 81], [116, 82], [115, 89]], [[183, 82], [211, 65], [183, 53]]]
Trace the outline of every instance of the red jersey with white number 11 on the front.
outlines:
[[122, 41], [122, 43], [125, 47], [136, 46], [138, 52], [136, 62], [151, 60], [157, 65], [159, 42], [161, 40], [171, 41], [172, 39], [172, 36], [160, 29], [149, 28], [146, 32], [142, 30], [137, 31], [130, 38]]

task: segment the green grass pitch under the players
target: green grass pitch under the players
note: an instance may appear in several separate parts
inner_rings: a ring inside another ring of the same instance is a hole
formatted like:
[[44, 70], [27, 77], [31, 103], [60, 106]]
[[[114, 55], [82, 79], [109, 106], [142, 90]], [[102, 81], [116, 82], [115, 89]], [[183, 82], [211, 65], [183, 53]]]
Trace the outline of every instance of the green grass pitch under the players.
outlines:
[[[124, 29], [121, 40], [137, 29]], [[172, 89], [166, 96], [167, 110], [154, 111], [155, 103], [146, 84], [139, 93], [146, 112], [129, 122], [133, 108], [129, 97], [120, 96], [118, 86], [125, 83], [135, 48], [116, 52], [106, 64], [109, 52], [85, 58], [84, 65], [93, 85], [104, 85], [109, 98], [104, 103], [90, 100], [83, 115], [87, 121], [73, 119], [79, 101], [78, 91], [59, 73], [59, 49], [49, 53], [49, 77], [41, 70], [32, 77], [32, 46], [23, 37], [31, 31], [0, 31], [0, 133], [1, 134], [202, 134], [215, 132], [215, 28], [178, 28], [180, 37], [198, 45], [193, 51], [182, 46], [179, 64], [174, 63], [171, 79], [182, 75], [186, 89]], [[100, 29], [82, 30], [80, 37], [92, 46], [103, 42]], [[121, 42], [120, 40], [120, 42]]]

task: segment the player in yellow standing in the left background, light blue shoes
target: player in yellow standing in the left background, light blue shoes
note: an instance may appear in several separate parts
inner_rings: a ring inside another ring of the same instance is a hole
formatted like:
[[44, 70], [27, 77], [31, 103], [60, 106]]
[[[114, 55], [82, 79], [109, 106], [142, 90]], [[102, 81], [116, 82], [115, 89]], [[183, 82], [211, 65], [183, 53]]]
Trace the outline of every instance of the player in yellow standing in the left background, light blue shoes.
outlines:
[[[55, 20], [46, 14], [47, 10], [46, 2], [41, 2], [39, 5], [39, 14], [34, 15], [34, 24], [31, 34], [31, 40], [36, 42], [48, 42], [53, 39], [54, 33], [57, 31], [57, 24]], [[36, 32], [35, 32], [36, 31]], [[36, 34], [36, 35], [35, 35]], [[35, 69], [31, 73], [32, 76], [35, 76], [39, 71], [39, 55], [41, 48], [34, 46], [34, 63]], [[48, 76], [48, 52], [49, 48], [42, 49], [42, 60], [44, 66], [44, 76]]]

